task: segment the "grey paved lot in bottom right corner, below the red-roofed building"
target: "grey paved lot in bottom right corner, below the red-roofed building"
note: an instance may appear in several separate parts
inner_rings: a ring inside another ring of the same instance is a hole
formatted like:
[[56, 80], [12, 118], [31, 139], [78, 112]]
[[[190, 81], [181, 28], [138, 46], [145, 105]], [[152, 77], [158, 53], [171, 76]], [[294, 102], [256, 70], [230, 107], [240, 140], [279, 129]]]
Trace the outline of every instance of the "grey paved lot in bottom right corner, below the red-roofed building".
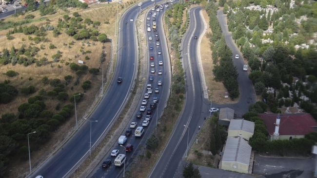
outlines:
[[313, 178], [316, 165], [315, 155], [311, 158], [261, 157], [256, 153], [253, 174], [265, 178]]

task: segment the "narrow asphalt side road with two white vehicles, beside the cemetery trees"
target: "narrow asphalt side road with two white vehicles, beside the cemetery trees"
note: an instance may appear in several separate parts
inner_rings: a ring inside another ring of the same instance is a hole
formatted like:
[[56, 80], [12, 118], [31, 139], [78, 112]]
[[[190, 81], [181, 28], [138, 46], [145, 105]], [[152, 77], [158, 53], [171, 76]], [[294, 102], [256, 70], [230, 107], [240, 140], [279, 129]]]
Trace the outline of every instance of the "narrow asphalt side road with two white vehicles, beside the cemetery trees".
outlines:
[[[232, 60], [234, 65], [237, 67], [237, 71], [239, 74], [238, 84], [240, 97], [239, 102], [237, 104], [234, 104], [233, 107], [235, 108], [235, 113], [237, 114], [237, 117], [242, 117], [243, 113], [248, 112], [248, 106], [256, 102], [256, 94], [252, 82], [249, 79], [248, 72], [243, 71], [244, 61], [242, 58], [242, 54], [238, 51], [237, 47], [233, 43], [232, 34], [228, 32], [225, 15], [222, 13], [222, 10], [218, 11], [217, 18], [221, 25], [222, 32], [225, 36], [226, 43], [233, 53]], [[235, 59], [236, 54], [239, 55], [239, 59]]]

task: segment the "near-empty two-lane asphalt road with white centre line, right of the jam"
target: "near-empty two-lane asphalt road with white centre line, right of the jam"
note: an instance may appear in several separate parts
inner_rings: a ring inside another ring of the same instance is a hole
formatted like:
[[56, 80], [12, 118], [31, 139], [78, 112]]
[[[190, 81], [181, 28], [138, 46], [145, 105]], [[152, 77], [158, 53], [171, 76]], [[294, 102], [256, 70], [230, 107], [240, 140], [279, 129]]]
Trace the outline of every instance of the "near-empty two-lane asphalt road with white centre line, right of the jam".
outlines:
[[184, 125], [188, 124], [189, 139], [195, 138], [198, 133], [198, 125], [202, 125], [204, 121], [203, 117], [200, 116], [207, 115], [208, 107], [210, 107], [203, 98], [197, 61], [198, 39], [194, 39], [194, 36], [199, 36], [204, 28], [203, 23], [198, 23], [198, 21], [201, 21], [199, 11], [200, 7], [190, 9], [190, 25], [181, 45], [182, 64], [186, 80], [186, 103], [174, 126], [170, 141], [152, 168], [148, 178], [174, 177], [178, 163], [184, 157], [187, 148], [188, 129]]

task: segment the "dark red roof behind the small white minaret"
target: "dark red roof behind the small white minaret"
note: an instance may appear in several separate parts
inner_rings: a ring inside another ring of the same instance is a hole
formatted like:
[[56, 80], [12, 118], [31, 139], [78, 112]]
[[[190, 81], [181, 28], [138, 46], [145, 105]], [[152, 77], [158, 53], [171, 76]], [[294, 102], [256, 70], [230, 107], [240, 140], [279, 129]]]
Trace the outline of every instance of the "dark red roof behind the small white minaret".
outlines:
[[[277, 114], [258, 114], [263, 119], [267, 131], [273, 135]], [[279, 135], [305, 135], [316, 131], [317, 122], [308, 113], [280, 114]]]

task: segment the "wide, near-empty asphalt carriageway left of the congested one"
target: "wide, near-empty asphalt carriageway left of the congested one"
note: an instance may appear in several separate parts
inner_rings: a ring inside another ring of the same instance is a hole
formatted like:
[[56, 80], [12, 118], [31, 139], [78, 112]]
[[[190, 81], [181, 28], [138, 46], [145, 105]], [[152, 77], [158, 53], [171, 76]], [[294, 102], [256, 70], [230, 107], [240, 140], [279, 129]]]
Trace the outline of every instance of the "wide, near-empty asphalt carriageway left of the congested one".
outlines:
[[[118, 61], [115, 66], [115, 73], [108, 91], [103, 96], [98, 107], [90, 116], [92, 123], [91, 142], [92, 147], [101, 138], [115, 118], [118, 117], [124, 104], [127, 102], [128, 96], [131, 94], [133, 83], [136, 79], [138, 63], [138, 44], [136, 37], [136, 26], [134, 22], [130, 22], [130, 18], [136, 18], [137, 9], [133, 6], [123, 15], [119, 21], [119, 49]], [[128, 24], [123, 24], [127, 20]], [[117, 78], [122, 77], [122, 83], [117, 83]], [[85, 96], [83, 96], [84, 99]], [[44, 161], [42, 165], [30, 175], [35, 177], [38, 175], [44, 178], [63, 178], [66, 177], [70, 170], [78, 165], [83, 157], [89, 154], [90, 142], [90, 122], [85, 122], [76, 134], [65, 143], [57, 153]]]

